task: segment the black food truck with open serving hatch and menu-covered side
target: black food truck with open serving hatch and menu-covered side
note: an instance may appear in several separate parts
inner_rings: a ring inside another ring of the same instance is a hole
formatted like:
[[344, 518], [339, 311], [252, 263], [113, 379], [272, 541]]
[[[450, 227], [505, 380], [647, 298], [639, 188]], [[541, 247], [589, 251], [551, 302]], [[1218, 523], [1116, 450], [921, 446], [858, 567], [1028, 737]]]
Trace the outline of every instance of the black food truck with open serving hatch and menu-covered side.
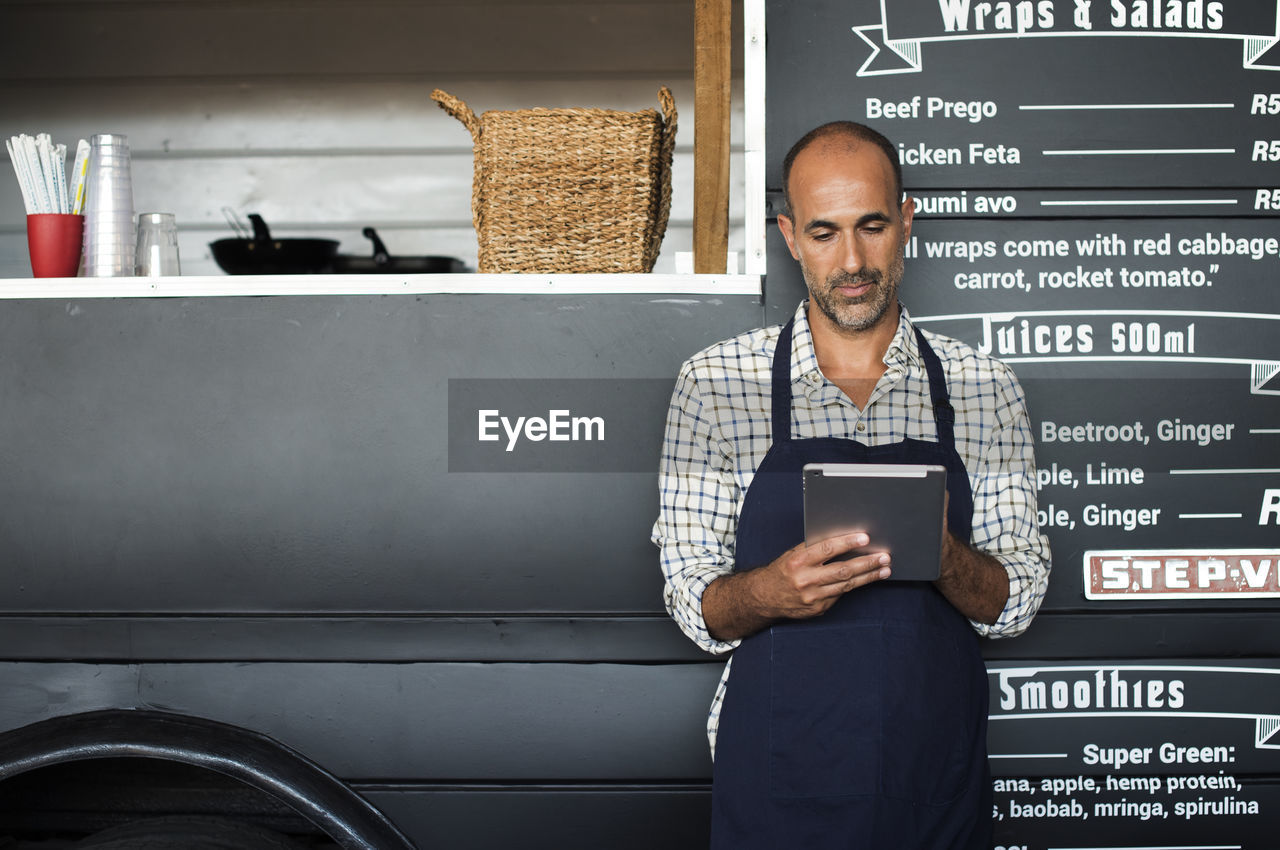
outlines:
[[303, 32], [148, 4], [182, 50], [138, 14], [64, 22], [88, 47], [52, 79], [0, 42], [13, 114], [131, 134], [183, 257], [32, 279], [0, 196], [0, 844], [705, 846], [724, 659], [663, 611], [663, 417], [687, 356], [803, 297], [782, 154], [850, 118], [899, 145], [913, 319], [1009, 362], [1034, 422], [1053, 570], [983, 648], [996, 846], [1270, 846], [1274, 5], [748, 0], [733, 268], [677, 271], [686, 119], [664, 253], [614, 275], [221, 275], [206, 245], [229, 205], [474, 269], [472, 140], [430, 87], [684, 108], [641, 70], [692, 77], [684, 4], [335, 3]]

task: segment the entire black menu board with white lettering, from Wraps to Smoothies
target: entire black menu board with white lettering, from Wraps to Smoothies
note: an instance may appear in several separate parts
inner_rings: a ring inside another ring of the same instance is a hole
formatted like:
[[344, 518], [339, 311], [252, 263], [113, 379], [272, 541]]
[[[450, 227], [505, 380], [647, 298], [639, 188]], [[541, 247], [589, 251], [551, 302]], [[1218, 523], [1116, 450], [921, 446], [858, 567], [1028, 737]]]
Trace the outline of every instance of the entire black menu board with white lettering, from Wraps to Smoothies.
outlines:
[[1053, 573], [988, 652], [996, 844], [1274, 847], [1280, 6], [768, 0], [767, 31], [772, 209], [806, 131], [883, 132], [902, 301], [1027, 392]]

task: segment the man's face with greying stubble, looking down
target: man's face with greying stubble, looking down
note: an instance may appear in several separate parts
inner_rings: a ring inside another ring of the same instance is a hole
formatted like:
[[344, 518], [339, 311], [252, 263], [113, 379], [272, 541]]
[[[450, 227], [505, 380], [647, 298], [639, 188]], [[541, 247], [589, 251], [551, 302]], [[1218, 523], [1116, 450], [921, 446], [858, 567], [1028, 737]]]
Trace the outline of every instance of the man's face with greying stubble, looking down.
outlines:
[[778, 228], [820, 315], [845, 333], [896, 321], [914, 206], [895, 197], [883, 151], [838, 136], [818, 140], [796, 156], [788, 188], [791, 216], [780, 215]]

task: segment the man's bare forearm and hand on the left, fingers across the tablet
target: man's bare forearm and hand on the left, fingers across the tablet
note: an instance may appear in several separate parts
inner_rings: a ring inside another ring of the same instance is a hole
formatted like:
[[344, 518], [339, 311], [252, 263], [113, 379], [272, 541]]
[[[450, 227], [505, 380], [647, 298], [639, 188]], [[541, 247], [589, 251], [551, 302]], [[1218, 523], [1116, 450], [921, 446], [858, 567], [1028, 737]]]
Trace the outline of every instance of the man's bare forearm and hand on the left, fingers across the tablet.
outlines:
[[792, 547], [772, 563], [721, 576], [703, 591], [703, 620], [716, 640], [737, 640], [778, 620], [817, 617], [855, 588], [890, 576], [887, 553], [831, 562], [868, 544], [863, 533]]

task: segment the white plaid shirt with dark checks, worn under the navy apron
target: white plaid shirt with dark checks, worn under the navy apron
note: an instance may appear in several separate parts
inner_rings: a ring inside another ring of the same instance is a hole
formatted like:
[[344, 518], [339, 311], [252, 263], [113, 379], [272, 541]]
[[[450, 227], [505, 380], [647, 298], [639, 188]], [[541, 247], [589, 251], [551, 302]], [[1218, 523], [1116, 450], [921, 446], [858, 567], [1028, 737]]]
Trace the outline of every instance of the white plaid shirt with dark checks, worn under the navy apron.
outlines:
[[[859, 411], [818, 369], [806, 307], [801, 302], [796, 309], [791, 341], [792, 435], [868, 445], [908, 437], [936, 442], [929, 379], [906, 310], [884, 353], [887, 370]], [[667, 412], [653, 541], [662, 549], [667, 612], [709, 653], [727, 653], [739, 643], [708, 634], [703, 591], [733, 570], [742, 501], [772, 444], [769, 384], [780, 332], [753, 330], [691, 357]], [[973, 489], [972, 543], [1009, 571], [1009, 602], [1000, 618], [970, 622], [979, 635], [1012, 638], [1036, 616], [1050, 571], [1048, 541], [1036, 522], [1033, 437], [1021, 388], [1002, 362], [955, 339], [924, 335], [942, 361], [956, 412], [955, 445]], [[728, 666], [707, 721], [713, 755], [727, 680]]]

